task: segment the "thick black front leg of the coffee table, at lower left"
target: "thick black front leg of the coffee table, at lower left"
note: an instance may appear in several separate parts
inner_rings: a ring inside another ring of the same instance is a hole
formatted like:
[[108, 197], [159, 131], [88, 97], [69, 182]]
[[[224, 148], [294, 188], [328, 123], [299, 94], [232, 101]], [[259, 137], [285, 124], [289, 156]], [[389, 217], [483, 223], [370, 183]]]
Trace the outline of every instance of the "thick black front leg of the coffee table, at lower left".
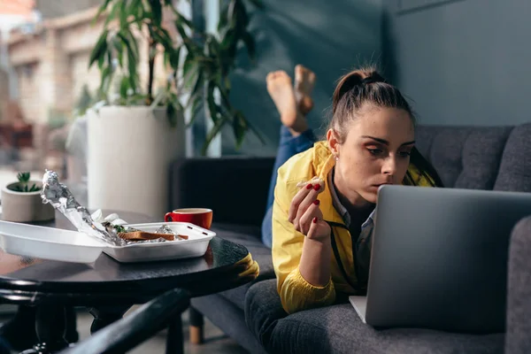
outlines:
[[45, 304], [37, 307], [35, 329], [39, 344], [20, 354], [49, 354], [68, 347], [65, 340], [65, 307]]

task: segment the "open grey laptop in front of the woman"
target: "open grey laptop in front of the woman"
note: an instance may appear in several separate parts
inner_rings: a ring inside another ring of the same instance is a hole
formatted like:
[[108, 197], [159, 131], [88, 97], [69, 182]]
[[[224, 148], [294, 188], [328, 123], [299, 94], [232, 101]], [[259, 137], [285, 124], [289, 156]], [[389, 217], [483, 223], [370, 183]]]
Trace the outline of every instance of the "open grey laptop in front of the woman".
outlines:
[[509, 241], [531, 193], [381, 186], [366, 296], [373, 327], [457, 333], [505, 328]]

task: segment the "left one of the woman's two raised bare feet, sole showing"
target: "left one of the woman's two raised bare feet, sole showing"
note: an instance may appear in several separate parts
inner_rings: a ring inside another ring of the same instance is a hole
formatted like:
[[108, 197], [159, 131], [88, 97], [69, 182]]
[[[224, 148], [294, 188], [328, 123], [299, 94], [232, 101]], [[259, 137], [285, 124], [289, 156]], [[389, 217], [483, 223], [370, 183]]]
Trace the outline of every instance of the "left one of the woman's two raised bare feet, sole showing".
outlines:
[[288, 127], [294, 136], [308, 129], [306, 119], [297, 110], [295, 92], [288, 73], [284, 71], [268, 73], [266, 82], [267, 92], [281, 113], [282, 124]]

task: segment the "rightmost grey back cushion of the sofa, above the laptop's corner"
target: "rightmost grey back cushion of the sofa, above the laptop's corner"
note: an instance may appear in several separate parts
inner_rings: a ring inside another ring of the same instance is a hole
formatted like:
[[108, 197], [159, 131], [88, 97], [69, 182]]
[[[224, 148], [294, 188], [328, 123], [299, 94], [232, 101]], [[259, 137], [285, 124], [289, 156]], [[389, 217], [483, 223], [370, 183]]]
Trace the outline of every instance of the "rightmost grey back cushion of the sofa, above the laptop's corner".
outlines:
[[531, 192], [531, 124], [512, 129], [494, 189]]

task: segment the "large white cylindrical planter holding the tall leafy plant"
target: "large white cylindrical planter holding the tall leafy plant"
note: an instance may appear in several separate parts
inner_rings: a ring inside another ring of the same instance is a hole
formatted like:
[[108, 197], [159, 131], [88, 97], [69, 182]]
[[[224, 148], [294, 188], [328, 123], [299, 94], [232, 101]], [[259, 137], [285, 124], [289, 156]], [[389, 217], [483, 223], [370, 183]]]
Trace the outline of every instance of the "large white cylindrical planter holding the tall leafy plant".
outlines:
[[87, 114], [89, 209], [164, 218], [168, 167], [185, 156], [181, 113], [177, 127], [163, 109], [109, 106]]

